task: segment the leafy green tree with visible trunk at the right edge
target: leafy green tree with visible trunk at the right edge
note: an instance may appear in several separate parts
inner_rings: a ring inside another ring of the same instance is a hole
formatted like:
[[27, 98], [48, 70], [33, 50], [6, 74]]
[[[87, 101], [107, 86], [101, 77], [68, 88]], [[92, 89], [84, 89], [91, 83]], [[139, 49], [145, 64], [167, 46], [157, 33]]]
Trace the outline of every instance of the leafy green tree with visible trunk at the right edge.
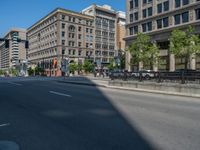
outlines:
[[188, 69], [191, 55], [200, 52], [200, 39], [193, 33], [191, 26], [186, 31], [172, 31], [170, 36], [170, 52], [176, 57], [184, 58], [185, 69]]

